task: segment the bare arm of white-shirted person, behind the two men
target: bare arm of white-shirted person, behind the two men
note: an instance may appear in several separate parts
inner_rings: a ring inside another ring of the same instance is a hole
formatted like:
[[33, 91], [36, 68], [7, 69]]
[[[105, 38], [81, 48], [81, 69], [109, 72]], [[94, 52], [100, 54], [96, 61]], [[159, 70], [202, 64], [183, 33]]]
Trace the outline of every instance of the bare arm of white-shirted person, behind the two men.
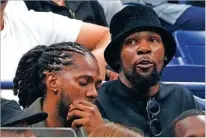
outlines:
[[107, 65], [104, 59], [104, 50], [110, 42], [109, 29], [99, 25], [83, 23], [76, 42], [84, 45], [94, 54], [100, 68], [101, 79], [104, 80]]

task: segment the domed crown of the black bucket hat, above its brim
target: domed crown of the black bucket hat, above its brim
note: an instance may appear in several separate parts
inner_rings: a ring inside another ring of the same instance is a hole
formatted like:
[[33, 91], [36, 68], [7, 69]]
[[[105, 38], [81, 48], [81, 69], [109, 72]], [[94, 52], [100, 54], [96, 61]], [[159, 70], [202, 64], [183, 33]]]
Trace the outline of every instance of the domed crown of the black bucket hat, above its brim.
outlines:
[[112, 39], [121, 34], [121, 32], [129, 30], [135, 26], [161, 27], [161, 24], [157, 14], [150, 7], [141, 4], [127, 6], [116, 13], [111, 20], [110, 33]]

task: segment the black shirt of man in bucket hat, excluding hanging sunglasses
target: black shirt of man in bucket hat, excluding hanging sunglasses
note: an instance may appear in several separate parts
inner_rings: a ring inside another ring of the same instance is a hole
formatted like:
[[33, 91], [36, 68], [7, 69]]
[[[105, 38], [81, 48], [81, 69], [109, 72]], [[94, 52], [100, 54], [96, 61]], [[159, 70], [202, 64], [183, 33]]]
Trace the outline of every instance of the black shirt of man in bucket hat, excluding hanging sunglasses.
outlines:
[[[138, 94], [120, 80], [104, 83], [98, 94], [96, 105], [103, 118], [139, 128], [146, 136], [151, 136], [146, 99], [139, 99]], [[161, 84], [159, 92], [154, 97], [160, 104], [160, 113], [157, 115], [163, 126], [160, 137], [172, 136], [169, 125], [179, 114], [188, 109], [200, 109], [191, 92], [180, 85]]]

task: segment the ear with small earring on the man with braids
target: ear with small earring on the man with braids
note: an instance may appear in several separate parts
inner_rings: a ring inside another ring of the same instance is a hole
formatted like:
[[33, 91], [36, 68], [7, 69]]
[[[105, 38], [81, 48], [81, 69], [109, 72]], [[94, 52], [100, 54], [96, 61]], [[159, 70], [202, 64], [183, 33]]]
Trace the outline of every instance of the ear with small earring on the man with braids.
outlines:
[[48, 72], [46, 73], [46, 85], [47, 85], [47, 90], [50, 92], [54, 92], [56, 95], [58, 93], [58, 77], [57, 74], [53, 72]]

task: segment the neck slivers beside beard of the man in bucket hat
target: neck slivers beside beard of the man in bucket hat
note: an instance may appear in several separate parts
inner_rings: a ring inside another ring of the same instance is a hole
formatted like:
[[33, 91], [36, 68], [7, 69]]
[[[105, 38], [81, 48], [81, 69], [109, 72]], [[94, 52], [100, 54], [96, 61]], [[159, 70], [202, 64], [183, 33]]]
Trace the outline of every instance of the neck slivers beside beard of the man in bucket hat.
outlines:
[[[130, 89], [133, 89], [133, 85], [131, 84], [131, 82], [125, 77], [124, 73], [123, 72], [120, 72], [119, 73], [119, 79], [121, 80], [121, 82], [127, 86], [128, 88]], [[158, 82], [156, 85], [154, 86], [151, 86], [150, 88], [147, 89], [147, 93], [146, 93], [146, 96], [147, 97], [152, 97], [154, 96], [155, 94], [157, 94], [158, 90], [160, 88], [160, 83]], [[137, 90], [138, 91], [138, 90]]]

